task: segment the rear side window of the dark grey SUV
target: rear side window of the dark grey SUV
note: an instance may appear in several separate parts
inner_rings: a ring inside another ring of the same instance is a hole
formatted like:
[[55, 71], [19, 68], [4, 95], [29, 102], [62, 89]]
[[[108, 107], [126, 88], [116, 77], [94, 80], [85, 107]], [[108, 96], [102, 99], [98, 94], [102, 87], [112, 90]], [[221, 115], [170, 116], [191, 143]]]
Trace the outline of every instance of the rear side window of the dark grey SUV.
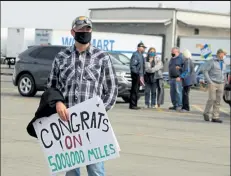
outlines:
[[55, 56], [61, 51], [61, 47], [44, 47], [36, 58], [53, 60]]

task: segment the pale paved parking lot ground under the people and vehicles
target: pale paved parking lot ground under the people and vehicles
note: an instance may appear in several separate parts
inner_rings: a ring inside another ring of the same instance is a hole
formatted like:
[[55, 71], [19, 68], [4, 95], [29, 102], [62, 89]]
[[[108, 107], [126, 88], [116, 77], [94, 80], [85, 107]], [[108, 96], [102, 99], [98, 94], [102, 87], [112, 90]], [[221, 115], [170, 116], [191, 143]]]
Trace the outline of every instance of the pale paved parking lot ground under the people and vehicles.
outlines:
[[[48, 166], [26, 126], [42, 92], [25, 98], [1, 76], [1, 175], [47, 176]], [[128, 109], [118, 99], [109, 117], [121, 157], [105, 163], [107, 176], [228, 176], [230, 175], [230, 109], [222, 101], [222, 124], [204, 122], [207, 92], [191, 92], [190, 113], [169, 111], [169, 90], [159, 110]], [[144, 106], [144, 100], [139, 101]], [[86, 176], [85, 168], [82, 173]]]

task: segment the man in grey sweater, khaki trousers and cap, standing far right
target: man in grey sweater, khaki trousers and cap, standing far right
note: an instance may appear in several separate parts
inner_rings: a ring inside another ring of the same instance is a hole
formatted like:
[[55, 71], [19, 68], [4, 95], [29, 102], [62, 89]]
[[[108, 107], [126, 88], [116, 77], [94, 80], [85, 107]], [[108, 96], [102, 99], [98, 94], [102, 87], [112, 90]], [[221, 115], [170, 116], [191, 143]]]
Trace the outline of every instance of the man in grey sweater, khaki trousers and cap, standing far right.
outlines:
[[213, 106], [212, 122], [222, 123], [219, 119], [220, 103], [225, 83], [225, 52], [222, 49], [217, 51], [217, 56], [205, 64], [204, 76], [208, 83], [209, 99], [204, 110], [204, 120], [210, 121], [211, 108]]

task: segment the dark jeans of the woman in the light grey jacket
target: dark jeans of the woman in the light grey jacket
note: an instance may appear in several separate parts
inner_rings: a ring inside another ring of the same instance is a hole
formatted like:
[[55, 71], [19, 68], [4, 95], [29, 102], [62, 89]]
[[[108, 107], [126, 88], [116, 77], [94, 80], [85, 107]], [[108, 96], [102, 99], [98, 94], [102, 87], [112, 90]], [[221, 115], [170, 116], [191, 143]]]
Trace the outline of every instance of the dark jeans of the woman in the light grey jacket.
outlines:
[[151, 106], [156, 105], [156, 82], [145, 84], [145, 105], [150, 106], [150, 94], [151, 94]]

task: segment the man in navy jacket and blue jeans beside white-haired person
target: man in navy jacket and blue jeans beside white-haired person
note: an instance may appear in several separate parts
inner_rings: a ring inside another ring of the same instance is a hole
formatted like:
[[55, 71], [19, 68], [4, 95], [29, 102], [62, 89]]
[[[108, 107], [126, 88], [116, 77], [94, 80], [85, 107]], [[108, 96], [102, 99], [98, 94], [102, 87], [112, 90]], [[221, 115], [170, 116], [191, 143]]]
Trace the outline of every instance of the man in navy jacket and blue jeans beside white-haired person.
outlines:
[[173, 107], [170, 110], [181, 111], [182, 109], [182, 74], [183, 58], [178, 47], [172, 48], [172, 58], [169, 61], [170, 96]]

